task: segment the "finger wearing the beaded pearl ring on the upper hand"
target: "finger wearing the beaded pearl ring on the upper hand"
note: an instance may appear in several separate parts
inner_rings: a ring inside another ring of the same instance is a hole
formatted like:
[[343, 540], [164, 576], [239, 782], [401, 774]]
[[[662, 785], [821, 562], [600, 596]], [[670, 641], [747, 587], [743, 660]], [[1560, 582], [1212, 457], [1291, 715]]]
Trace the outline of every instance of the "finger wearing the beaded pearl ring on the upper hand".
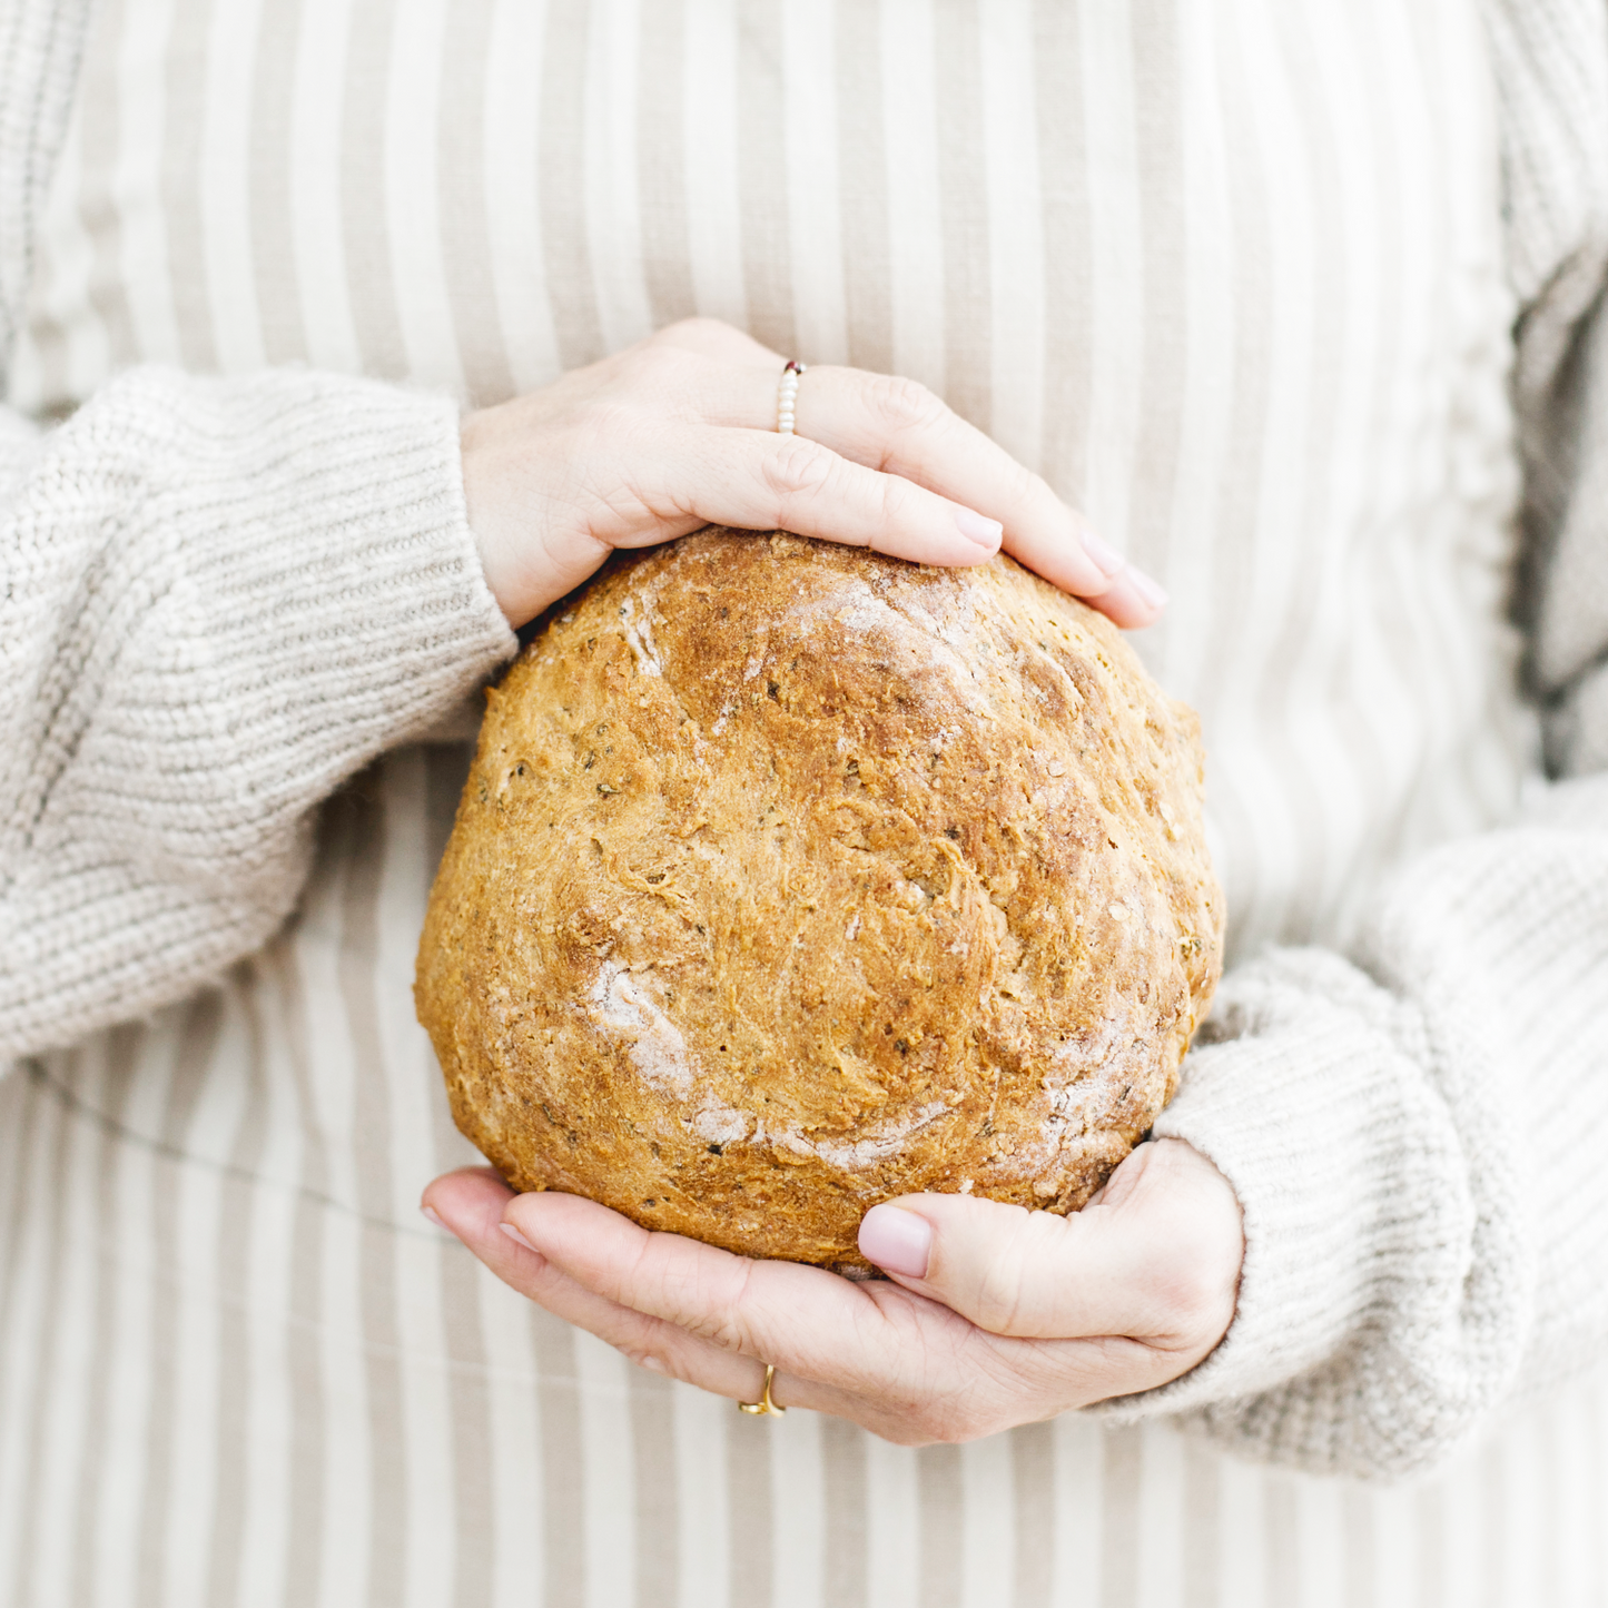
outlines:
[[[756, 363], [743, 375], [708, 375], [706, 413], [720, 425], [770, 425], [777, 378]], [[1116, 624], [1148, 626], [1166, 592], [1127, 564], [1074, 508], [1003, 447], [915, 381], [859, 368], [810, 368], [794, 404], [799, 436], [839, 457], [913, 481], [1003, 524], [1005, 550]]]

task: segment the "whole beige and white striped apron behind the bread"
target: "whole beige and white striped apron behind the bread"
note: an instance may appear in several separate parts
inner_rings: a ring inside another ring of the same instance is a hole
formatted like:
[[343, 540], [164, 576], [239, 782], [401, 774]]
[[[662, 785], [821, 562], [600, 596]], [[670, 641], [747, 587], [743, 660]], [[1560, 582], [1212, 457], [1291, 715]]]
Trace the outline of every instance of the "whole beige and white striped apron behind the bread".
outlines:
[[[1235, 952], [1344, 942], [1529, 756], [1492, 119], [1470, 0], [103, 0], [10, 402], [494, 400], [693, 312], [915, 375], [1172, 590]], [[1375, 1492], [754, 1421], [529, 1311], [415, 1211], [465, 764], [391, 756], [269, 950], [0, 1085], [6, 1608], [1608, 1598], [1602, 1388]]]

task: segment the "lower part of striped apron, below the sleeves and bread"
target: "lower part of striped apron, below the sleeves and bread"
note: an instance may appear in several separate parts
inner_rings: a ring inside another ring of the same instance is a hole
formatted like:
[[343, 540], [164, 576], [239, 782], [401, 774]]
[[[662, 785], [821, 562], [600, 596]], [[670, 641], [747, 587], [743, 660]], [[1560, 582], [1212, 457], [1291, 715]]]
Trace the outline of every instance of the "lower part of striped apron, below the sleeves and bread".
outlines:
[[745, 1418], [481, 1274], [413, 1212], [461, 1140], [396, 1010], [465, 762], [343, 794], [224, 987], [0, 1085], [8, 1608], [1602, 1602], [1603, 1391], [1402, 1491], [1076, 1417], [912, 1452]]

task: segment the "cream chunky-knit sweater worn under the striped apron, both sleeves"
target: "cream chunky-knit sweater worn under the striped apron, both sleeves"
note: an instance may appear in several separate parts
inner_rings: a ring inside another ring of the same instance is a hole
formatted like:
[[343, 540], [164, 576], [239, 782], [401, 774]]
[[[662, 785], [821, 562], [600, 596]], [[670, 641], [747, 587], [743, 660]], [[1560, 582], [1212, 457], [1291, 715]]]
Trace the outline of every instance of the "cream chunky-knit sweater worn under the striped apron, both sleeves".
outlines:
[[[0, 339], [85, 0], [0, 6]], [[1158, 1134], [1245, 1206], [1225, 1341], [1105, 1409], [1319, 1470], [1421, 1466], [1608, 1338], [1608, 11], [1491, 5], [1523, 307], [1528, 675], [1566, 778], [1401, 867], [1348, 955], [1224, 984]], [[0, 1055], [178, 999], [273, 933], [314, 807], [513, 640], [455, 413], [317, 373], [137, 371], [0, 428]]]

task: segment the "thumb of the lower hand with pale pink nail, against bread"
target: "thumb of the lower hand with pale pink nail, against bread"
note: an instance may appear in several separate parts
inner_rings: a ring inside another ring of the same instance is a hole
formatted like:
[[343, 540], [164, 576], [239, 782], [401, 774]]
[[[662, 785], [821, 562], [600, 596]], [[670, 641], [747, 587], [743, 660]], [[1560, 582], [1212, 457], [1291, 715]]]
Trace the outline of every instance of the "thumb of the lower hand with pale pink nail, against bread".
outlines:
[[963, 1195], [873, 1208], [862, 1253], [994, 1335], [1127, 1336], [1204, 1356], [1233, 1315], [1240, 1206], [1175, 1140], [1142, 1145], [1098, 1206], [1060, 1217]]

